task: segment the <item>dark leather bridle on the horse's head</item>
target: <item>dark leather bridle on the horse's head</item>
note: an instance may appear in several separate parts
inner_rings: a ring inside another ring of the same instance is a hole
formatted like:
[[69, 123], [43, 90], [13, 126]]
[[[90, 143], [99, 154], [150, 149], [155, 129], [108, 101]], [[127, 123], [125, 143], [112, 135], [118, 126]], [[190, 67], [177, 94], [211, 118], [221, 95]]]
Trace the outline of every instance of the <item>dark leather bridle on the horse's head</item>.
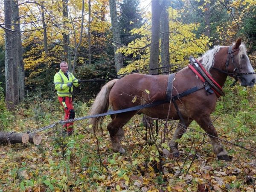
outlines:
[[[212, 69], [217, 70], [217, 71], [219, 71], [219, 72], [221, 72], [221, 73], [225, 73], [225, 74], [227, 74], [228, 76], [233, 76], [236, 80], [237, 80], [239, 77], [241, 78], [241, 75], [251, 75], [251, 74], [255, 74], [255, 72], [248, 72], [248, 73], [240, 73], [240, 72], [239, 72], [239, 69], [238, 69], [238, 67], [237, 67], [237, 65], [236, 65], [236, 61], [234, 60], [234, 55], [233, 55], [233, 52], [236, 52], [237, 50], [239, 50], [239, 48], [232, 50], [232, 46], [229, 46], [229, 47], [228, 47], [228, 57], [227, 57], [227, 61], [226, 61], [226, 64], [225, 64], [225, 70], [220, 70], [220, 69], [217, 69], [217, 68], [215, 68], [215, 67], [212, 67]], [[229, 63], [230, 63], [230, 58], [232, 59], [231, 64], [233, 64], [234, 67], [235, 67], [234, 70], [233, 70], [233, 73], [229, 73], [228, 70], [227, 70], [228, 65], [229, 65]]]

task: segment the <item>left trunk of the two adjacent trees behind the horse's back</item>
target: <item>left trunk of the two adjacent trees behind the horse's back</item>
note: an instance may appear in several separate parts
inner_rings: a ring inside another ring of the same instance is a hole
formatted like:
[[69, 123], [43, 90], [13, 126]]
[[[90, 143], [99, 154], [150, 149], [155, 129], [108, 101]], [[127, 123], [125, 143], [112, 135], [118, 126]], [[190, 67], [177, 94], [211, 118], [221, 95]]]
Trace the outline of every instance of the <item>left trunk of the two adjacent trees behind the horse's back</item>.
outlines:
[[[160, 1], [151, 1], [152, 10], [152, 29], [151, 29], [151, 48], [150, 48], [150, 60], [149, 69], [154, 69], [159, 66], [159, 38], [160, 38]], [[150, 70], [149, 74], [156, 74], [158, 70]]]

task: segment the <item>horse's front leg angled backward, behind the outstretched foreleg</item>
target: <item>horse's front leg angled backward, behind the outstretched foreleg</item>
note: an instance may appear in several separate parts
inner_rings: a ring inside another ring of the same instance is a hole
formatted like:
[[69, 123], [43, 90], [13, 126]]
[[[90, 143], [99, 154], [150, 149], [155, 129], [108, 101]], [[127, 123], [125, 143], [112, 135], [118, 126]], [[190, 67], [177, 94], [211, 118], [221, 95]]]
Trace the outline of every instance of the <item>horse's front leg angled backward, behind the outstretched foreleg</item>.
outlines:
[[172, 140], [169, 143], [170, 148], [172, 149], [172, 154], [175, 157], [179, 156], [178, 143], [176, 142], [176, 140], [180, 139], [182, 135], [186, 132], [186, 128], [190, 125], [190, 123], [192, 122], [192, 119], [188, 118], [188, 119], [184, 119], [184, 121], [185, 122], [182, 122], [181, 120], [179, 121], [179, 124], [175, 130], [174, 136], [172, 137]]

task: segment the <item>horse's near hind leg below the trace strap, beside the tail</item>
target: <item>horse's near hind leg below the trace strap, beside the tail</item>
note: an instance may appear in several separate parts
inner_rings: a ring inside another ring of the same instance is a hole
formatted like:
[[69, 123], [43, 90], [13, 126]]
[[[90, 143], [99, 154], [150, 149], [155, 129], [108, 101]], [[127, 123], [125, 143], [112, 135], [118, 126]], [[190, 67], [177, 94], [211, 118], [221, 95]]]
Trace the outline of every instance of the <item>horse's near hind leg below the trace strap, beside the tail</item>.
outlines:
[[111, 123], [108, 124], [108, 131], [110, 134], [110, 139], [112, 143], [113, 151], [119, 153], [125, 153], [124, 148], [122, 148], [120, 140], [124, 137], [124, 131], [122, 127], [134, 116], [135, 112], [120, 113], [112, 117]]

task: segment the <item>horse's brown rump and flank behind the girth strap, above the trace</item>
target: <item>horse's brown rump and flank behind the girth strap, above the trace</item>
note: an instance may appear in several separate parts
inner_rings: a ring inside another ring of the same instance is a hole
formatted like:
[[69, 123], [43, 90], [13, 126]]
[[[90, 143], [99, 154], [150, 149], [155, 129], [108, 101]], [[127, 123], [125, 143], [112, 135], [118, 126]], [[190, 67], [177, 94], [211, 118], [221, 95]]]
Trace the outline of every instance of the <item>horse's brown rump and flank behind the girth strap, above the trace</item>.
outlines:
[[168, 75], [129, 74], [112, 87], [110, 104], [116, 110], [165, 99], [167, 82]]

